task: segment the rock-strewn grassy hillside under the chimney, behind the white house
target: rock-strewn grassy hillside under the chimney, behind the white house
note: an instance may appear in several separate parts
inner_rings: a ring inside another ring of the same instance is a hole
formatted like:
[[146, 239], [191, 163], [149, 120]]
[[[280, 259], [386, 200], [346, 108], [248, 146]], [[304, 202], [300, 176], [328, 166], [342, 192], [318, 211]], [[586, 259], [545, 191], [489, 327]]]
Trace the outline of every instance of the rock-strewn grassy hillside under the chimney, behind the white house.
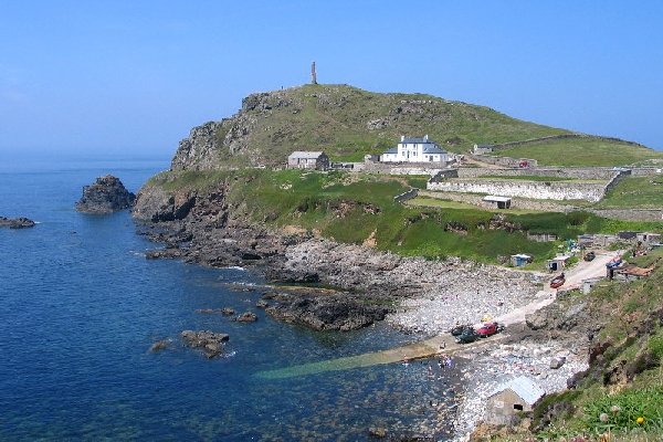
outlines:
[[[293, 150], [325, 150], [335, 160], [362, 160], [366, 154], [396, 146], [401, 135], [425, 134], [451, 151], [467, 151], [475, 143], [505, 143], [568, 134], [522, 122], [488, 107], [448, 102], [425, 94], [380, 94], [347, 85], [304, 85], [271, 93], [269, 112], [256, 117], [252, 150], [263, 162], [284, 161]], [[288, 101], [288, 106], [277, 103]], [[412, 102], [419, 103], [412, 103]], [[407, 103], [403, 103], [407, 102]], [[369, 128], [382, 119], [387, 126]]]

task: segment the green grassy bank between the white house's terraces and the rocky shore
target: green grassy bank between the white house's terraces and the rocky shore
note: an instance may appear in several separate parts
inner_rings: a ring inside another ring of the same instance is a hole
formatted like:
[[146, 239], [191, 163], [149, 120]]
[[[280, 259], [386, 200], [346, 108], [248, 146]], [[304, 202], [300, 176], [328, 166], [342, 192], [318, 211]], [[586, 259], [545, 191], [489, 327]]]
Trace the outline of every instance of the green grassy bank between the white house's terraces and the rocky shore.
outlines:
[[[227, 180], [233, 176], [233, 180]], [[410, 179], [366, 173], [270, 171], [167, 172], [150, 183], [167, 190], [213, 188], [233, 182], [228, 198], [251, 221], [273, 227], [296, 225], [340, 242], [373, 243], [379, 250], [429, 259], [448, 255], [497, 263], [515, 253], [535, 256], [535, 265], [554, 255], [556, 243], [527, 240], [526, 232], [575, 238], [583, 232], [655, 230], [654, 223], [606, 220], [586, 212], [502, 213], [449, 204], [410, 207], [393, 197]]]

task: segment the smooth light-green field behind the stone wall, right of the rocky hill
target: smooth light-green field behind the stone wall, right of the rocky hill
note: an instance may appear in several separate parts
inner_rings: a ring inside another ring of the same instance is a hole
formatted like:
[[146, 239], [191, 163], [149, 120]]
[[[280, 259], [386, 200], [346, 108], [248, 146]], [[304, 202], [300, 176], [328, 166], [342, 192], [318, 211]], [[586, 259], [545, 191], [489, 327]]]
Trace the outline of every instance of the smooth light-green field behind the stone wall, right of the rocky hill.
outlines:
[[560, 139], [501, 149], [497, 156], [533, 158], [539, 166], [627, 166], [663, 159], [663, 152], [624, 143], [598, 139]]

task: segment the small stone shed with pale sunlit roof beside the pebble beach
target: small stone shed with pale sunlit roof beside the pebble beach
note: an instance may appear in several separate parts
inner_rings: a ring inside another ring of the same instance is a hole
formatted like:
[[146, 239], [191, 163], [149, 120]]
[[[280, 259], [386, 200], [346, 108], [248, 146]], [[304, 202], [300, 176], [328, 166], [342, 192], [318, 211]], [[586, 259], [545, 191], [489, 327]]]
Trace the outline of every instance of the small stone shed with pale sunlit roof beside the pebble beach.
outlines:
[[519, 376], [499, 385], [486, 402], [484, 421], [492, 425], [511, 425], [518, 412], [532, 411], [546, 396], [543, 388], [527, 376]]

